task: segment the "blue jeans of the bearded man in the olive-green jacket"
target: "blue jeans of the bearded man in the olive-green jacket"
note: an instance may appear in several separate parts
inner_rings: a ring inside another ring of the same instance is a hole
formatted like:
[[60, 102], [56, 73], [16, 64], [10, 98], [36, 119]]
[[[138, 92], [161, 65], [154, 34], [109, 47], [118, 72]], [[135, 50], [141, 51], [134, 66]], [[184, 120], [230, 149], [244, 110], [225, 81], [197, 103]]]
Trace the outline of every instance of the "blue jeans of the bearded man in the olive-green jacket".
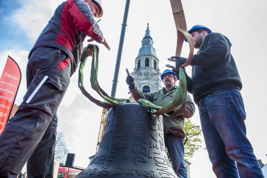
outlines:
[[183, 139], [181, 136], [164, 134], [164, 142], [172, 160], [172, 168], [179, 178], [188, 178], [185, 166]]

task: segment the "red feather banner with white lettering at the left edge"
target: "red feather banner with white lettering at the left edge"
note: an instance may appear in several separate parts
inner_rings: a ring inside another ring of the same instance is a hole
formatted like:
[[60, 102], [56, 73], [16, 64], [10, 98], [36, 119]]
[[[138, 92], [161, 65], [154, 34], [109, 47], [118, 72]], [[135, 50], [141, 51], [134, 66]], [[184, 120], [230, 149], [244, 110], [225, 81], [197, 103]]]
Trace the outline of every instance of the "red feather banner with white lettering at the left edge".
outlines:
[[0, 134], [3, 132], [7, 120], [9, 119], [20, 80], [20, 68], [17, 63], [8, 56], [6, 66], [0, 78]]

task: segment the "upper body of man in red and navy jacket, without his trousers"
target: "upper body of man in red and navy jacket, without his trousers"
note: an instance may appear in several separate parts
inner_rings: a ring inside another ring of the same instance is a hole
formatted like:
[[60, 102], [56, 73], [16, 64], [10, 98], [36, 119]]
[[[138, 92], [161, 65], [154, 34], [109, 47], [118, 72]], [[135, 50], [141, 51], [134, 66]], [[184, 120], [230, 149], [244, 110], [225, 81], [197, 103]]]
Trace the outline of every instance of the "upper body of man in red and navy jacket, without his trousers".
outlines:
[[[55, 47], [64, 51], [71, 61], [71, 74], [80, 62], [82, 43], [86, 36], [109, 49], [103, 34], [94, 20], [103, 15], [103, 9], [95, 0], [68, 0], [55, 10], [54, 16], [48, 22], [30, 51], [29, 57], [38, 47]], [[97, 5], [98, 4], [98, 5]], [[89, 5], [89, 6], [88, 6]], [[92, 6], [92, 7], [91, 7]]]

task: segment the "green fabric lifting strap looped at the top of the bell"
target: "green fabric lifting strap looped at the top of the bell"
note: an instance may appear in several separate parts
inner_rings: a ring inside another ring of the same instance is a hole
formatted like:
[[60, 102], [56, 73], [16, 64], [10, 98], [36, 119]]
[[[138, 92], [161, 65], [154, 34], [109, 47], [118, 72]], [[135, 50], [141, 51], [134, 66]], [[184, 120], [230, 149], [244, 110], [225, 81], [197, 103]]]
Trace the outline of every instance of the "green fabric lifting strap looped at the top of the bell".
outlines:
[[[92, 97], [84, 88], [83, 85], [83, 68], [85, 66], [85, 63], [87, 61], [87, 54], [84, 53], [81, 57], [81, 63], [79, 67], [79, 81], [78, 86], [83, 93], [84, 96], [89, 98], [90, 101], [97, 104], [100, 107], [110, 109], [113, 106], [116, 106], [118, 104], [124, 104], [129, 103], [129, 99], [118, 99], [110, 97], [105, 91], [100, 87], [97, 81], [97, 73], [98, 73], [98, 57], [99, 57], [99, 47], [97, 45], [93, 45], [94, 52], [92, 57], [92, 63], [91, 63], [91, 77], [90, 82], [92, 88], [105, 100], [105, 101], [99, 101]], [[183, 69], [180, 67], [179, 69], [179, 75], [180, 75], [180, 81], [179, 86], [175, 91], [174, 98], [172, 101], [169, 101], [167, 104], [165, 104], [163, 107], [156, 106], [152, 102], [146, 100], [146, 99], [139, 99], [138, 102], [151, 108], [151, 112], [154, 113], [154, 115], [164, 115], [167, 112], [174, 112], [170, 117], [174, 117], [177, 115], [180, 115], [183, 113], [185, 107], [186, 107], [186, 77]], [[167, 114], [165, 114], [167, 115]], [[167, 115], [169, 116], [169, 115]]]

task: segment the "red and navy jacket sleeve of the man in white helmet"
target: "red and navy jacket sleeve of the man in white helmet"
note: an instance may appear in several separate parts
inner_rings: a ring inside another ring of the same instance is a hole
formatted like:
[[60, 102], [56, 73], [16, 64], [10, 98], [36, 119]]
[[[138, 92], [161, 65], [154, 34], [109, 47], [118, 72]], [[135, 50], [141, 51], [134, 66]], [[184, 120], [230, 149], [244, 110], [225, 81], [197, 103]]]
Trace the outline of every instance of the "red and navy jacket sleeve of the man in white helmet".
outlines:
[[94, 15], [89, 5], [83, 0], [68, 0], [66, 3], [75, 27], [100, 43], [100, 40], [103, 39], [103, 34], [94, 20]]

